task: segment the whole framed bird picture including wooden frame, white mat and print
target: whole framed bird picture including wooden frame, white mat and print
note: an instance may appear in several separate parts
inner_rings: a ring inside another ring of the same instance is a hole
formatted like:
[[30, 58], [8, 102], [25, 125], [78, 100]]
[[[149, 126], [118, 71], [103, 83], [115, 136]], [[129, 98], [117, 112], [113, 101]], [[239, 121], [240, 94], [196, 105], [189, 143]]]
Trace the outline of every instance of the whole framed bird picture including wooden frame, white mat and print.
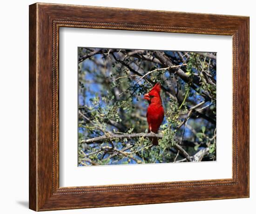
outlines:
[[29, 6], [29, 208], [243, 197], [248, 17]]

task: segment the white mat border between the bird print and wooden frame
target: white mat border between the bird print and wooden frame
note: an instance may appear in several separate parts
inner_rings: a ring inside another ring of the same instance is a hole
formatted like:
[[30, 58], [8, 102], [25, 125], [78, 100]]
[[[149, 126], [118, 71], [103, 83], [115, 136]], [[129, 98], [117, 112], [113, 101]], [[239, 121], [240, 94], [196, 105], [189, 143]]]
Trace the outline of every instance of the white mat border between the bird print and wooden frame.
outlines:
[[[217, 161], [77, 167], [78, 46], [217, 52]], [[59, 100], [61, 187], [232, 178], [231, 36], [62, 28]]]

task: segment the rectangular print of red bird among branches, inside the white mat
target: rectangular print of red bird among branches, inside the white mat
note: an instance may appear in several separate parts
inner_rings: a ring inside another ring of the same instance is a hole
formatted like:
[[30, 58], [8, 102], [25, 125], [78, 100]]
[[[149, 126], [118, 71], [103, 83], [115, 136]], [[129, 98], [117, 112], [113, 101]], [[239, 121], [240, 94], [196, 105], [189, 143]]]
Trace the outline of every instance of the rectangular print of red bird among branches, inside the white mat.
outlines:
[[216, 161], [216, 52], [78, 47], [78, 166]]

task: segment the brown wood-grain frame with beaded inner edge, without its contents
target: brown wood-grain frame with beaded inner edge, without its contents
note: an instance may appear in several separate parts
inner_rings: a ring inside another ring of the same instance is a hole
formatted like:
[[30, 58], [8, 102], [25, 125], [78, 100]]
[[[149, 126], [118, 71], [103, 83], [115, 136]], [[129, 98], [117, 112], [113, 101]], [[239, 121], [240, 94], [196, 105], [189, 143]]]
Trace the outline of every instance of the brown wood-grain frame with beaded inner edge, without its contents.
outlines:
[[[59, 187], [59, 29], [231, 35], [232, 179]], [[29, 208], [92, 208], [249, 197], [249, 17], [36, 3], [29, 6]]]

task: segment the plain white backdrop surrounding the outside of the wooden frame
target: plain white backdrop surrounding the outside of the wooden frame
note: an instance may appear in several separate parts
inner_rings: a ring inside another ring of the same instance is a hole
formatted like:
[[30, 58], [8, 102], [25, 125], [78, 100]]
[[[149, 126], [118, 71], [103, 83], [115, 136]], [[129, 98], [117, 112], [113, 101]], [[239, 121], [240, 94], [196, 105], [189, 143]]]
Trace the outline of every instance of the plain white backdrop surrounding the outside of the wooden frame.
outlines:
[[[47, 2], [41, 0], [41, 2]], [[255, 149], [256, 108], [256, 14], [251, 0], [243, 1], [191, 1], [167, 0], [51, 0], [52, 3], [115, 6], [153, 10], [217, 13], [250, 16], [250, 198], [218, 201], [195, 201], [113, 208], [94, 208], [54, 211], [55, 213], [197, 213], [216, 214], [226, 210], [232, 214], [254, 213], [256, 203]], [[32, 213], [28, 210], [28, 5], [32, 0], [3, 1], [0, 7], [0, 212]], [[96, 15], [96, 14], [95, 14]]]

